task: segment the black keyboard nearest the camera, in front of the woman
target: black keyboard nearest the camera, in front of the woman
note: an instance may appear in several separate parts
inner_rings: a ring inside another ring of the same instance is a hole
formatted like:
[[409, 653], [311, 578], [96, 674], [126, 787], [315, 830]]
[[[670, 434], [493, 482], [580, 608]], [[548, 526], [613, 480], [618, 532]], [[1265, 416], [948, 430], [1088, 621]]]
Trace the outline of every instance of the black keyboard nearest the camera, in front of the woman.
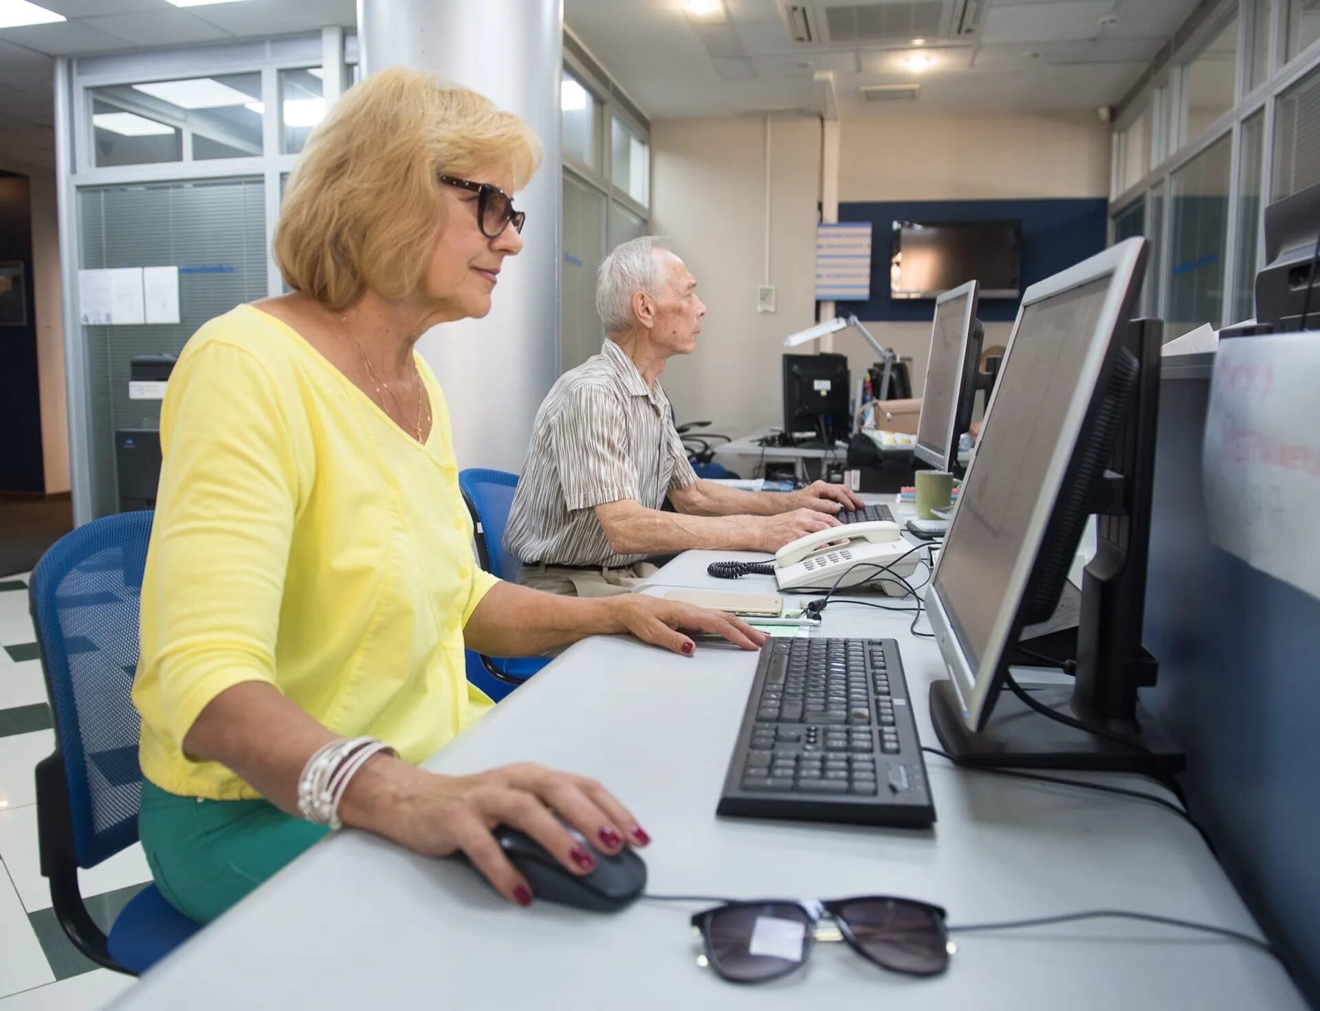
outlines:
[[771, 639], [762, 647], [719, 814], [931, 825], [899, 644]]

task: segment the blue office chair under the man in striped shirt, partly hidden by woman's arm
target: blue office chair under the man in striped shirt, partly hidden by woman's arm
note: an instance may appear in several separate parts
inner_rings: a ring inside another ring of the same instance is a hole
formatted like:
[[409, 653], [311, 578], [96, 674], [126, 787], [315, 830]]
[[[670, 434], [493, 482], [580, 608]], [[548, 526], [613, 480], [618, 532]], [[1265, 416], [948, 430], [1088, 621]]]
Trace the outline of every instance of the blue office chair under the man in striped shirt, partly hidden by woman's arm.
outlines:
[[[513, 506], [517, 475], [503, 470], [470, 467], [459, 471], [458, 488], [463, 494], [467, 511], [473, 513], [477, 532], [477, 560], [480, 566], [500, 579], [517, 579], [517, 558], [504, 552], [504, 528], [508, 511]], [[499, 702], [510, 692], [545, 667], [549, 660], [540, 656], [491, 657], [467, 651], [467, 680]]]

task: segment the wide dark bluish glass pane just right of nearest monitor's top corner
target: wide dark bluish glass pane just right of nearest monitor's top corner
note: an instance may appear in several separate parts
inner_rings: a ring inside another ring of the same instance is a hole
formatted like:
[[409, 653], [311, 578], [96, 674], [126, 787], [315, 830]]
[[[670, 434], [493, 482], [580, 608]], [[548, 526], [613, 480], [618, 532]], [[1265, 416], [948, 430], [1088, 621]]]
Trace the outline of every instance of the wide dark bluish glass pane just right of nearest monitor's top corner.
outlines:
[[1232, 147], [1232, 135], [1225, 135], [1172, 177], [1168, 338], [1224, 322]]

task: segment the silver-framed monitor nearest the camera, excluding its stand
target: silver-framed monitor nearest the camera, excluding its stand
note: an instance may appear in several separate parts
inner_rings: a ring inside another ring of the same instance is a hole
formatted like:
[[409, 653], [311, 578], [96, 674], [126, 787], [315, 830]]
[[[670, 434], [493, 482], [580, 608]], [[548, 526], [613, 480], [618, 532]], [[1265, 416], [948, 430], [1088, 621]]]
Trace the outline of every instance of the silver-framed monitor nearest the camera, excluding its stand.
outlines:
[[1122, 242], [1034, 284], [1018, 311], [927, 595], [972, 730], [990, 715], [1023, 626], [1057, 603], [1092, 512], [1100, 446], [1122, 416], [1114, 384], [1131, 358], [1122, 337], [1144, 259], [1144, 239]]

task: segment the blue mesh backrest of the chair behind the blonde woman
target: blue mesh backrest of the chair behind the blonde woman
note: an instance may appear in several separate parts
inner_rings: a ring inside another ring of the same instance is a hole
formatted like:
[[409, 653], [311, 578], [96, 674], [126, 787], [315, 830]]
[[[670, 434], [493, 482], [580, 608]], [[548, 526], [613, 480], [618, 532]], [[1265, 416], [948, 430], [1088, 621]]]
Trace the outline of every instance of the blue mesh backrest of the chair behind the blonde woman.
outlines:
[[79, 527], [32, 573], [32, 616], [81, 867], [137, 841], [141, 721], [131, 692], [152, 517], [125, 512]]

